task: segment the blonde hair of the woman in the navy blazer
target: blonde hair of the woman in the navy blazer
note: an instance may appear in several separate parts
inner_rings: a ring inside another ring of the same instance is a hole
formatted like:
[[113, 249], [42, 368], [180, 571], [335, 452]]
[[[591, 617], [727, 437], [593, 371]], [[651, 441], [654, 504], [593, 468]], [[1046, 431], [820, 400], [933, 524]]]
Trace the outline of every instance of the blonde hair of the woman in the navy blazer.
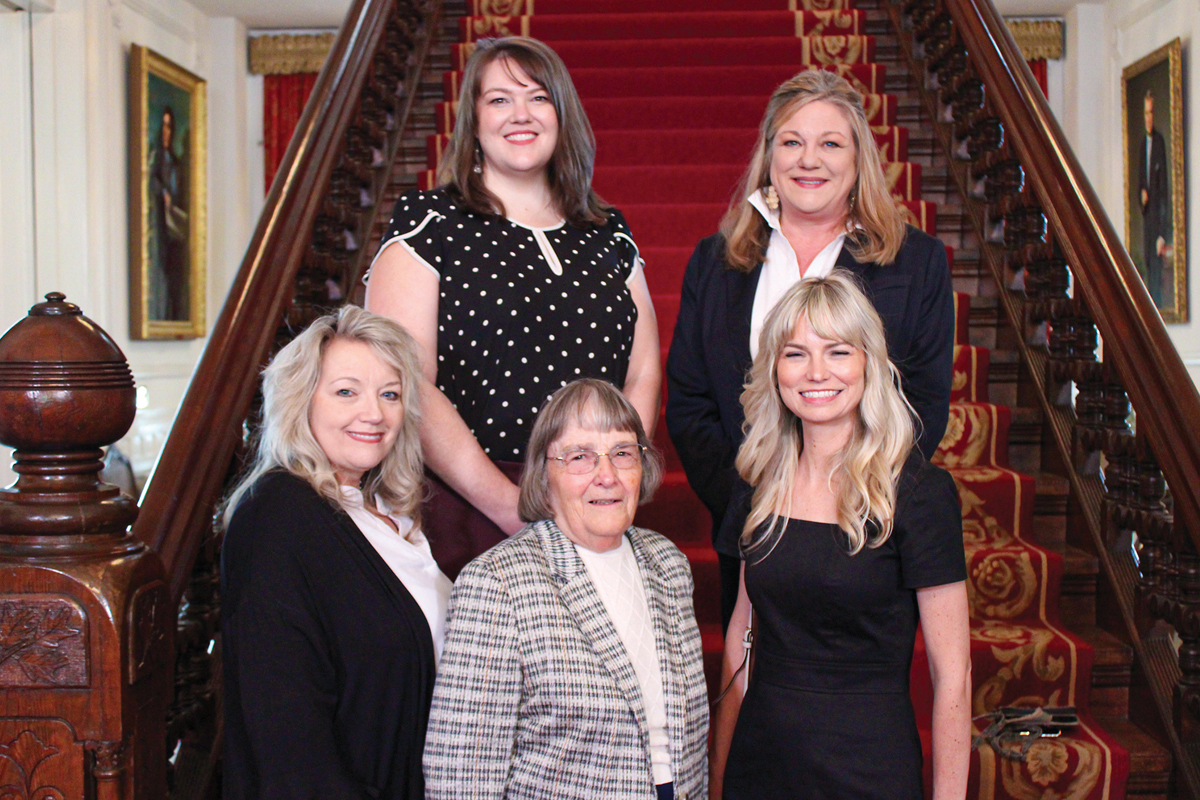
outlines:
[[726, 261], [731, 267], [749, 272], [762, 263], [770, 243], [770, 227], [750, 205], [749, 198], [770, 186], [770, 154], [779, 128], [792, 114], [817, 101], [838, 107], [854, 138], [857, 174], [846, 209], [846, 229], [852, 231], [846, 236], [846, 248], [864, 264], [892, 264], [896, 260], [905, 237], [904, 216], [888, 191], [880, 149], [875, 146], [871, 126], [866, 122], [863, 96], [839, 74], [805, 70], [781, 83], [770, 96], [758, 126], [758, 143], [750, 166], [721, 219]]

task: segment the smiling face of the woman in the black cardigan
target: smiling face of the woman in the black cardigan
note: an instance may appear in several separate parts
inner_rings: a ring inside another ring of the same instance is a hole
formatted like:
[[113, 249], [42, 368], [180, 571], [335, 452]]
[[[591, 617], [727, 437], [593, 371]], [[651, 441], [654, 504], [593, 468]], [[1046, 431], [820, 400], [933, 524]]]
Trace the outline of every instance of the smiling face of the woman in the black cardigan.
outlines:
[[359, 486], [362, 474], [391, 452], [404, 421], [396, 371], [368, 344], [332, 339], [308, 405], [308, 427], [337, 481]]

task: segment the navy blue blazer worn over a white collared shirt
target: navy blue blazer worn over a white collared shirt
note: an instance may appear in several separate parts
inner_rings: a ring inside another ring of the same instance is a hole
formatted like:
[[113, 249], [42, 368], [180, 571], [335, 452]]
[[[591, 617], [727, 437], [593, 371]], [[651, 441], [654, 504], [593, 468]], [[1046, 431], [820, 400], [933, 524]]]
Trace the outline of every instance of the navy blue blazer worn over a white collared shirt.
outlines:
[[[954, 363], [954, 293], [946, 247], [908, 227], [894, 264], [860, 264], [844, 247], [839, 269], [858, 276], [887, 330], [888, 356], [920, 417], [918, 447], [934, 455], [949, 419]], [[683, 279], [679, 317], [667, 356], [667, 431], [688, 482], [713, 515], [713, 545], [739, 555], [744, 511], [726, 515], [742, 444], [740, 396], [750, 369], [750, 313], [762, 264], [750, 272], [725, 263], [725, 237], [701, 240]], [[730, 518], [726, 519], [726, 516]]]

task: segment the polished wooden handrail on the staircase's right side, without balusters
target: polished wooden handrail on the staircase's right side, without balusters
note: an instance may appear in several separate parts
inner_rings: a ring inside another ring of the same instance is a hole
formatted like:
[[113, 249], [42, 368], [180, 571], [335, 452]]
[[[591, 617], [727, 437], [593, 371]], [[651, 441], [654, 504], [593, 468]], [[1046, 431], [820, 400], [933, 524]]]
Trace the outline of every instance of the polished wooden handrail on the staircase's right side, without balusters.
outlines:
[[[1166, 482], [1200, 547], [1200, 393], [1003, 18], [990, 0], [946, 0], [1004, 134], [1070, 264]], [[1079, 296], [1076, 294], [1076, 296]]]

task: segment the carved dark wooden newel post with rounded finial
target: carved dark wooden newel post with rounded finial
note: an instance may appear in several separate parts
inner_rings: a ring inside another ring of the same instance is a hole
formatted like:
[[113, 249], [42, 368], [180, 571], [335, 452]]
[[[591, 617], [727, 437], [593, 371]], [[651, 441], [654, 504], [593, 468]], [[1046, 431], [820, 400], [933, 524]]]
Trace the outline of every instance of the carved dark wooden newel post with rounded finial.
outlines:
[[137, 505], [100, 481], [133, 422], [116, 343], [58, 293], [0, 338], [0, 787], [14, 798], [166, 796], [172, 614]]

